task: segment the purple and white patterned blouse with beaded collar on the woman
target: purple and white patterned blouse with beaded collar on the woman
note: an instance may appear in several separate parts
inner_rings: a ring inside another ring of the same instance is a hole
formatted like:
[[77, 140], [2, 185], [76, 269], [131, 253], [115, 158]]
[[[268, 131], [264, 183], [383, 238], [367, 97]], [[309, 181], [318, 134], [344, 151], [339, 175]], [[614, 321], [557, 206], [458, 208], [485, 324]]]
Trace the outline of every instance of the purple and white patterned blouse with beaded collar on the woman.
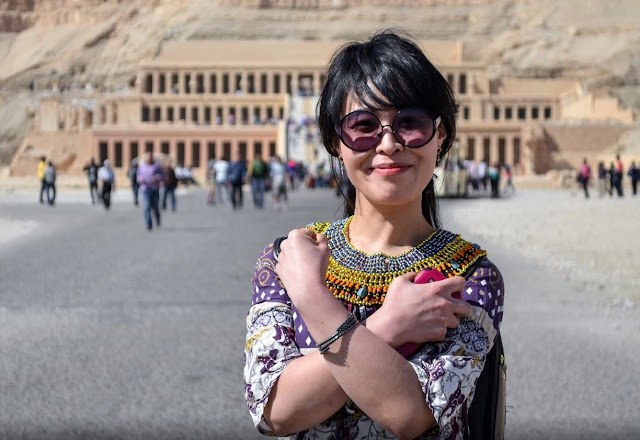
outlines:
[[[446, 230], [436, 230], [418, 246], [399, 256], [368, 255], [347, 238], [351, 218], [308, 227], [329, 241], [326, 284], [345, 307], [366, 319], [380, 308], [391, 281], [406, 272], [436, 268], [445, 276], [467, 279], [462, 299], [472, 314], [449, 329], [442, 342], [428, 343], [410, 356], [422, 391], [437, 421], [421, 439], [462, 439], [465, 402], [473, 399], [475, 384], [502, 321], [503, 280], [479, 246]], [[254, 424], [274, 436], [263, 419], [269, 393], [292, 360], [317, 350], [296, 307], [275, 272], [273, 245], [258, 258], [253, 276], [252, 306], [247, 316], [244, 352], [245, 397]], [[395, 438], [364, 414], [352, 401], [320, 425], [293, 439]]]

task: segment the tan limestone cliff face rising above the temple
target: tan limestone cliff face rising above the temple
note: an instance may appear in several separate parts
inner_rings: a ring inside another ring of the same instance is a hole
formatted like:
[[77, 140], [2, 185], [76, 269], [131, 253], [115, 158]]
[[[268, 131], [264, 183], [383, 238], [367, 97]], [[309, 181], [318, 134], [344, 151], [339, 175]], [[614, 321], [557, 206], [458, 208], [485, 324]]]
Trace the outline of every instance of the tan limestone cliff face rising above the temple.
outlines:
[[462, 40], [494, 76], [578, 77], [640, 102], [637, 0], [0, 0], [0, 117], [11, 116], [0, 163], [39, 93], [131, 84], [164, 40], [342, 40], [389, 26]]

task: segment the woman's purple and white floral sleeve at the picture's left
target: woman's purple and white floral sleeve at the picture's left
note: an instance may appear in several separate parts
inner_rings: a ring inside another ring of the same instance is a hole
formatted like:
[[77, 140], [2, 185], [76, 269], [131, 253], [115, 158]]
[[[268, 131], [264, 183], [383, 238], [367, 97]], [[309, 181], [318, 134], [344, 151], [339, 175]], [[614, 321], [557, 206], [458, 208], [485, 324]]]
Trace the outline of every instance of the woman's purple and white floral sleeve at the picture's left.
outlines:
[[244, 349], [245, 398], [256, 428], [275, 435], [264, 422], [264, 407], [284, 367], [302, 356], [295, 343], [291, 301], [275, 273], [273, 246], [258, 258]]

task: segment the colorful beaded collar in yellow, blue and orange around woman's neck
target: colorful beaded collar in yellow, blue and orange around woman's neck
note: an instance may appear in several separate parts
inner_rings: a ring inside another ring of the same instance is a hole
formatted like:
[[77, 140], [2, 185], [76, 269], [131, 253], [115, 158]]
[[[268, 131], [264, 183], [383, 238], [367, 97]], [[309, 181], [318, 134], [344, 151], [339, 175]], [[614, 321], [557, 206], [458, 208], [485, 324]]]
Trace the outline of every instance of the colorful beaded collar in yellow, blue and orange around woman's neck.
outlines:
[[435, 230], [422, 243], [398, 256], [365, 254], [348, 240], [353, 217], [335, 223], [312, 223], [308, 227], [329, 240], [326, 285], [333, 296], [359, 306], [381, 305], [391, 282], [407, 272], [431, 267], [447, 277], [462, 275], [487, 253], [476, 244], [444, 229]]

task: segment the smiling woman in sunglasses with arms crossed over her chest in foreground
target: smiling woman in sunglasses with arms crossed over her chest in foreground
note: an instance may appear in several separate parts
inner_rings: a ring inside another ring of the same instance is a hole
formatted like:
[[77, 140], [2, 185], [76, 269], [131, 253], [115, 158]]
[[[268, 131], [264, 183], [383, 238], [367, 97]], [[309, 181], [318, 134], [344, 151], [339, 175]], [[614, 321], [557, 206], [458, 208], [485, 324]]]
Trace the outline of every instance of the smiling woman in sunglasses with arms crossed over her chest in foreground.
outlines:
[[[334, 55], [318, 120], [349, 178], [347, 217], [291, 231], [277, 263], [272, 245], [258, 259], [244, 377], [260, 432], [463, 438], [504, 292], [483, 250], [439, 229], [432, 176], [456, 111], [406, 38], [382, 32]], [[426, 267], [448, 278], [413, 283]]]

